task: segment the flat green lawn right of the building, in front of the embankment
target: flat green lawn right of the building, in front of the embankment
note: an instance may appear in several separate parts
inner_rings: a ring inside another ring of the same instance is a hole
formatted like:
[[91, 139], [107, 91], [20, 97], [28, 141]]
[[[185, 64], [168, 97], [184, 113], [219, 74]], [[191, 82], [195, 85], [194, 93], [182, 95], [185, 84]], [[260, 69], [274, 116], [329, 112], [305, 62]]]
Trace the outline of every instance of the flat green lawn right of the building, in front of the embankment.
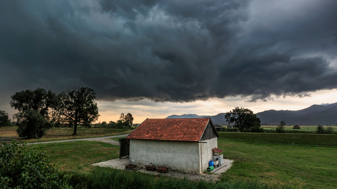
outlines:
[[222, 180], [258, 180], [288, 183], [303, 188], [335, 188], [337, 185], [337, 148], [253, 144], [218, 139], [224, 158], [234, 159]]

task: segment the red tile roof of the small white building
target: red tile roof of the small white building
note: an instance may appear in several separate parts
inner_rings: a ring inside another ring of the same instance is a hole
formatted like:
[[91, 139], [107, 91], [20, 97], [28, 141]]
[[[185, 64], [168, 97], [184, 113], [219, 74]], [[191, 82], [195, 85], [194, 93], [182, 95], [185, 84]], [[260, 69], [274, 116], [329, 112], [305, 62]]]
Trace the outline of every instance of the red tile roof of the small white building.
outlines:
[[147, 119], [127, 139], [199, 141], [210, 118]]

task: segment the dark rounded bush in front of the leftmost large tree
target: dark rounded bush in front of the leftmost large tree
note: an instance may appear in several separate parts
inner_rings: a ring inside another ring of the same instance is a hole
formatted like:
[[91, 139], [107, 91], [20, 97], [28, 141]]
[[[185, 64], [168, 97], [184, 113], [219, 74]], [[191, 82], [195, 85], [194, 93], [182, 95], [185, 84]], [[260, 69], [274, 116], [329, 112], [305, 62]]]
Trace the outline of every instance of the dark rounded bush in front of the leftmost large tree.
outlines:
[[23, 111], [17, 115], [16, 132], [20, 137], [41, 138], [44, 132], [53, 127], [36, 110]]

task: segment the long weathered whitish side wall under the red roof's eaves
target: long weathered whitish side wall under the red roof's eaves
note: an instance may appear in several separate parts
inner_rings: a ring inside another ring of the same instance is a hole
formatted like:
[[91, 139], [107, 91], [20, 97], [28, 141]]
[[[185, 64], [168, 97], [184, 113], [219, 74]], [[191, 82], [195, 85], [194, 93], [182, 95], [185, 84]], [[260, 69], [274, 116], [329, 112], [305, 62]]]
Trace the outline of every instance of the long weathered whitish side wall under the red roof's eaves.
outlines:
[[200, 174], [199, 143], [130, 139], [129, 157], [131, 163]]

